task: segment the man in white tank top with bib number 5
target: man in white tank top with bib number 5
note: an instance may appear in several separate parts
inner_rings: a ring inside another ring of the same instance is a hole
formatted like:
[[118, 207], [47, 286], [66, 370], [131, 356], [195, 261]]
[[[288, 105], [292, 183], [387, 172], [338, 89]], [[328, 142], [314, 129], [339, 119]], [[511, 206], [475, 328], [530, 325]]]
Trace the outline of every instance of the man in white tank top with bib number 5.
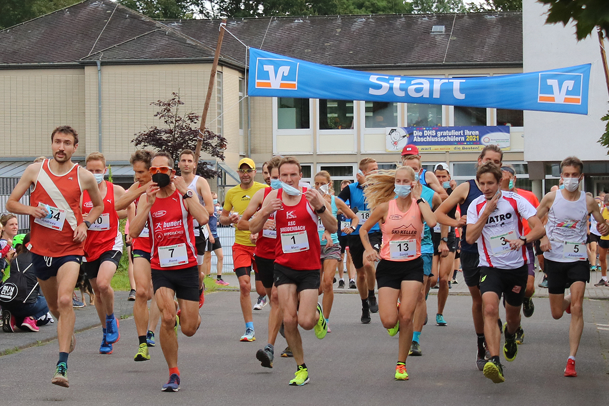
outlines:
[[[609, 234], [609, 226], [600, 215], [594, 198], [578, 190], [583, 179], [582, 161], [575, 156], [563, 159], [560, 178], [565, 189], [546, 194], [537, 209], [537, 217], [543, 218], [547, 214], [546, 236], [541, 239], [541, 250], [544, 251], [552, 317], [558, 320], [565, 311], [571, 313], [565, 376], [576, 377], [575, 356], [583, 331], [583, 294], [586, 283], [590, 281], [590, 264], [585, 248], [588, 214], [598, 222], [597, 229], [602, 236]], [[603, 240], [601, 247], [602, 244]], [[566, 297], [565, 286], [571, 291]]]

